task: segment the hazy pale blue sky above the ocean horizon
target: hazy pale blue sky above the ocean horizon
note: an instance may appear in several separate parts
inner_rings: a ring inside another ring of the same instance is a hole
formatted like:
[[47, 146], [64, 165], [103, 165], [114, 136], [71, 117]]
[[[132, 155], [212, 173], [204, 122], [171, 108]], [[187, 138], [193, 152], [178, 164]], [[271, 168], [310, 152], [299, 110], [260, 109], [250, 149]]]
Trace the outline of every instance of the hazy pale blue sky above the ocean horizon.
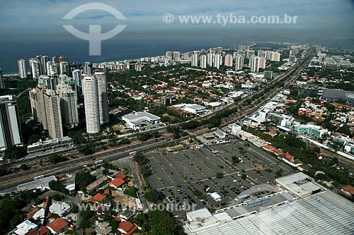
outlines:
[[[86, 4], [81, 0], [0, 0], [0, 36], [61, 35], [71, 37], [62, 25], [71, 24], [88, 30], [89, 24], [102, 25], [103, 31], [115, 25], [127, 25], [120, 37], [208, 37], [218, 35], [279, 35], [306, 39], [354, 38], [354, 1], [297, 0], [297, 1], [239, 1], [239, 0], [131, 0], [96, 1], [113, 6], [127, 19], [117, 20], [105, 11], [86, 11], [72, 20], [62, 18], [73, 8]], [[164, 14], [172, 13], [175, 21], [166, 24]], [[181, 24], [180, 15], [227, 16], [297, 16], [297, 23], [275, 24]], [[41, 36], [42, 37], [42, 36]], [[117, 36], [118, 37], [118, 36]]]

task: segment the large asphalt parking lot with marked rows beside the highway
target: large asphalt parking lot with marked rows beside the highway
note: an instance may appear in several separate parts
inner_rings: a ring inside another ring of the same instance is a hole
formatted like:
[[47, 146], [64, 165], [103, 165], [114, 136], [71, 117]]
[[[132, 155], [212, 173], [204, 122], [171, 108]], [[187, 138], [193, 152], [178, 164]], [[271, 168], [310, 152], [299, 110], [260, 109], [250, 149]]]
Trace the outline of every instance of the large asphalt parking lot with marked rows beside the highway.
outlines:
[[[189, 203], [199, 208], [232, 205], [236, 203], [234, 198], [247, 189], [273, 181], [280, 169], [282, 175], [291, 171], [285, 163], [240, 140], [180, 152], [152, 152], [146, 156], [153, 171], [149, 184], [164, 193], [166, 202]], [[235, 156], [241, 162], [233, 163]], [[211, 197], [210, 193], [215, 195], [215, 192], [221, 200]]]

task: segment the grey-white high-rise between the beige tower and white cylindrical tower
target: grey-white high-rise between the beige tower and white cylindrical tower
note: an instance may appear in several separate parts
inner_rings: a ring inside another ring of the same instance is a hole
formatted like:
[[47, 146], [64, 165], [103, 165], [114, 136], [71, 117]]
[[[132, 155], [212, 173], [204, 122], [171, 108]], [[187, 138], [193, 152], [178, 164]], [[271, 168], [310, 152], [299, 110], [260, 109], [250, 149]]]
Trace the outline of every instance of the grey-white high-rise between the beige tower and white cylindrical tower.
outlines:
[[79, 114], [77, 112], [76, 92], [69, 84], [60, 83], [57, 85], [57, 93], [60, 98], [60, 111], [65, 125], [77, 126], [79, 124]]

